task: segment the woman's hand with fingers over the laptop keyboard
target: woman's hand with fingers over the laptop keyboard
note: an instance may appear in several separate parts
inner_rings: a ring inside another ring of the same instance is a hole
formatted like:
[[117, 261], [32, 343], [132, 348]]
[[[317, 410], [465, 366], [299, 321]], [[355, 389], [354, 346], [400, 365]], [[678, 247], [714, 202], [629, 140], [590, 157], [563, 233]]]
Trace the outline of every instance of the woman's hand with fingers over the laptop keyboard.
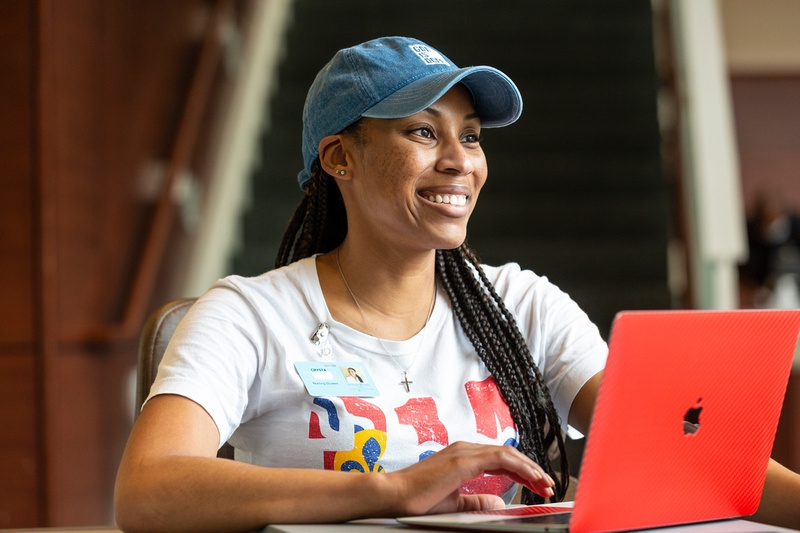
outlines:
[[541, 496], [553, 495], [550, 476], [511, 446], [457, 442], [386, 476], [399, 484], [396, 501], [402, 502], [401, 514], [419, 515], [502, 508], [505, 503], [499, 496], [460, 494], [464, 482], [484, 474], [507, 476]]

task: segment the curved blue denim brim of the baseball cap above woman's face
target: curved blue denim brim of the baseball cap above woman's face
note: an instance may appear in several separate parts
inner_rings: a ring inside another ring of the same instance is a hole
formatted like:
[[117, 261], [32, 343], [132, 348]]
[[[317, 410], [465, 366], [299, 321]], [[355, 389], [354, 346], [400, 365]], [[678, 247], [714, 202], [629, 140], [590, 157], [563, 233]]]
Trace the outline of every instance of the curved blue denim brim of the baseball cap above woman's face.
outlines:
[[507, 126], [522, 114], [522, 96], [514, 82], [495, 68], [481, 66], [440, 72], [409, 83], [361, 116], [400, 118], [413, 115], [433, 104], [459, 82], [472, 93], [481, 126]]

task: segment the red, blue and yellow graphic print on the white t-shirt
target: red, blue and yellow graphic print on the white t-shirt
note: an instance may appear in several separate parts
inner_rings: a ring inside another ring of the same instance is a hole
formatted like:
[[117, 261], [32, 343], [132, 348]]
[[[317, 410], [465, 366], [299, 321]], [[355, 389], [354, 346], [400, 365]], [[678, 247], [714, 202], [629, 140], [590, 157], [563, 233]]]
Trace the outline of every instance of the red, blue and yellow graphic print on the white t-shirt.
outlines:
[[[515, 426], [511, 412], [493, 377], [489, 376], [483, 381], [467, 382], [464, 387], [478, 434], [489, 440], [496, 440], [504, 430], [510, 429], [513, 433]], [[346, 415], [359, 417], [364, 422], [363, 425], [354, 423], [352, 426], [352, 449], [323, 452], [324, 468], [346, 472], [383, 472], [384, 467], [380, 460], [386, 450], [388, 438], [386, 413], [364, 398], [346, 396], [337, 399], [341, 403], [336, 404], [329, 398], [314, 398], [314, 404], [324, 410], [325, 419], [321, 420], [317, 412], [311, 411], [308, 424], [309, 439], [325, 439], [325, 433], [328, 431], [347, 432], [350, 428], [342, 427], [341, 422], [347, 418]], [[337, 405], [346, 412], [339, 413]], [[435, 450], [450, 444], [447, 427], [439, 417], [436, 401], [433, 398], [411, 398], [395, 408], [393, 415], [400, 425], [414, 429], [420, 448], [428, 444], [427, 449], [419, 453], [418, 460], [421, 461], [435, 453]], [[372, 427], [365, 427], [368, 424]], [[508, 438], [504, 444], [516, 446], [517, 443], [514, 438]], [[435, 449], [430, 449], [431, 445]], [[513, 482], [503, 476], [482, 476], [465, 483], [462, 492], [503, 495], [513, 485]]]

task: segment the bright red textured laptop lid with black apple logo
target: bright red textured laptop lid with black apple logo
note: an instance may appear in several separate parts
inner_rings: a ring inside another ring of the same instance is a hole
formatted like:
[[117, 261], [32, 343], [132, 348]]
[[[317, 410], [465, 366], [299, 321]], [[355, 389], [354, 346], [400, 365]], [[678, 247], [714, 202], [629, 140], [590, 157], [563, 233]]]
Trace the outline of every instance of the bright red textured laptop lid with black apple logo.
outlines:
[[500, 515], [498, 529], [599, 533], [754, 513], [799, 333], [800, 310], [619, 313], [568, 526]]

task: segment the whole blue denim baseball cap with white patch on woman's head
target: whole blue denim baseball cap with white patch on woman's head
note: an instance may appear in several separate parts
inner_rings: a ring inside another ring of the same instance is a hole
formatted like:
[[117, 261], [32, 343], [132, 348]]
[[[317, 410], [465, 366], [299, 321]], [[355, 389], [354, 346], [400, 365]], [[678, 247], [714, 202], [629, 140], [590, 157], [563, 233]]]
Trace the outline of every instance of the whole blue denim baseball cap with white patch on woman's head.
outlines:
[[431, 46], [409, 37], [382, 37], [344, 48], [319, 71], [303, 108], [303, 189], [323, 137], [361, 117], [413, 115], [461, 82], [472, 94], [484, 128], [515, 122], [522, 96], [511, 79], [487, 66], [458, 68]]

